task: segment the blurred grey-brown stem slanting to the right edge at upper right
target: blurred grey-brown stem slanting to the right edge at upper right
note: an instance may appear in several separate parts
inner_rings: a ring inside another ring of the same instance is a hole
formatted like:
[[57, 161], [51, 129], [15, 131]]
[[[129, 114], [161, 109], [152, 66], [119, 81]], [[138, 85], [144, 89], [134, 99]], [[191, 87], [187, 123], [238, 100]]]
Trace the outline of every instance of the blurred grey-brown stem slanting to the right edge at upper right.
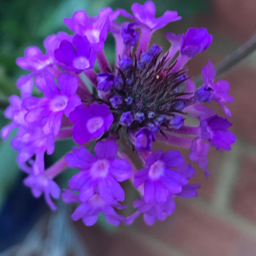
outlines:
[[[241, 60], [245, 59], [248, 55], [256, 50], [256, 34], [245, 44], [239, 47], [236, 51], [227, 56], [224, 60], [216, 65], [216, 76], [221, 75], [229, 69], [236, 66]], [[202, 75], [196, 77], [196, 85], [200, 85], [203, 82]]]

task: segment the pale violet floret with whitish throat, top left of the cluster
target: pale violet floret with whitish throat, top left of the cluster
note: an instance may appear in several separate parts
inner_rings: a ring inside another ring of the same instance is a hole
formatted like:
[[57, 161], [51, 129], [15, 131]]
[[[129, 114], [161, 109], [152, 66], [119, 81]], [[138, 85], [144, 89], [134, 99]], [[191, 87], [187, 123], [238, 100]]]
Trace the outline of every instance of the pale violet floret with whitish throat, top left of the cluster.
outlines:
[[99, 52], [104, 47], [103, 42], [106, 40], [110, 22], [115, 20], [117, 16], [118, 13], [113, 13], [112, 9], [108, 7], [102, 9], [98, 17], [90, 20], [86, 12], [81, 10], [75, 12], [71, 19], [65, 18], [64, 23], [75, 34], [81, 37], [86, 36], [95, 51]]

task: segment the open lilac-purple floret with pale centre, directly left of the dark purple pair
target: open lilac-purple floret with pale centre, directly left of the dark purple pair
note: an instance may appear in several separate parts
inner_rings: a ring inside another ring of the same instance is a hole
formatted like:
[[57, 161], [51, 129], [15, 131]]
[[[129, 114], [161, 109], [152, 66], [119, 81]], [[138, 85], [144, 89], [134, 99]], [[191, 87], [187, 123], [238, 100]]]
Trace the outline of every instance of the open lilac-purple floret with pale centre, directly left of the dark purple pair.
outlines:
[[27, 110], [25, 120], [28, 123], [44, 120], [43, 132], [56, 136], [63, 114], [68, 117], [70, 112], [81, 104], [81, 99], [75, 95], [78, 80], [75, 76], [62, 73], [58, 78], [58, 88], [54, 77], [45, 72], [44, 76], [37, 77], [36, 84], [45, 97], [28, 97], [23, 100], [23, 107]]

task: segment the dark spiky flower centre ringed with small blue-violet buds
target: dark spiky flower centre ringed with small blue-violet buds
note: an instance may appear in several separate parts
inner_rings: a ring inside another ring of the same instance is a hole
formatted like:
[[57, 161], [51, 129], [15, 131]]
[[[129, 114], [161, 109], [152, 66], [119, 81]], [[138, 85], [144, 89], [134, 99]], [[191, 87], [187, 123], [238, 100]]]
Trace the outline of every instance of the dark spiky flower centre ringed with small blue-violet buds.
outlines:
[[[110, 90], [110, 103], [112, 113], [118, 120], [121, 118], [122, 125], [159, 131], [161, 125], [169, 126], [176, 113], [184, 114], [187, 93], [180, 92], [179, 87], [187, 76], [185, 69], [172, 71], [174, 65], [166, 65], [167, 56], [158, 60], [161, 51], [154, 55], [150, 51], [142, 53], [138, 60], [136, 56], [123, 56]], [[124, 122], [123, 113], [127, 118], [127, 113], [131, 113], [129, 122]]]

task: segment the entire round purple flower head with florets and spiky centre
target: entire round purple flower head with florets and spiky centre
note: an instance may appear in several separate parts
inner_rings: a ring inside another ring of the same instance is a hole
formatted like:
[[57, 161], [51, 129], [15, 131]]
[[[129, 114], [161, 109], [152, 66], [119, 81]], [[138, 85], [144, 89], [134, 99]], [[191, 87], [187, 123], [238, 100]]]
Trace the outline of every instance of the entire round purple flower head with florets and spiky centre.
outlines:
[[[82, 219], [85, 225], [93, 225], [99, 212], [113, 225], [130, 224], [140, 214], [152, 225], [172, 214], [175, 197], [197, 196], [200, 186], [189, 183], [194, 168], [179, 151], [154, 151], [155, 141], [187, 148], [191, 161], [206, 176], [210, 146], [230, 150], [235, 141], [227, 130], [231, 126], [227, 118], [205, 106], [216, 101], [231, 116], [225, 105], [233, 101], [228, 82], [214, 82], [216, 72], [209, 61], [202, 69], [203, 84], [196, 89], [185, 66], [210, 45], [207, 29], [166, 33], [171, 46], [163, 52], [161, 46], [150, 44], [152, 34], [181, 17], [166, 11], [155, 18], [151, 1], [134, 3], [131, 10], [133, 14], [105, 8], [97, 17], [77, 11], [64, 19], [74, 34], [59, 32], [47, 37], [45, 54], [28, 47], [17, 65], [31, 73], [20, 77], [21, 97], [11, 96], [5, 111], [12, 122], [1, 136], [5, 139], [17, 128], [11, 144], [18, 151], [20, 167], [28, 173], [25, 185], [35, 197], [44, 194], [53, 210], [52, 198], [61, 196], [67, 203], [78, 203], [72, 218]], [[117, 23], [119, 15], [128, 21]], [[116, 41], [114, 66], [104, 54], [108, 33]], [[32, 95], [34, 85], [42, 97]], [[199, 125], [189, 125], [191, 118]], [[57, 140], [70, 138], [77, 146], [45, 170], [45, 153], [54, 152]], [[94, 146], [94, 153], [87, 150], [87, 142]], [[140, 170], [134, 167], [132, 154], [141, 159]], [[67, 167], [79, 172], [61, 193], [53, 179]], [[140, 197], [133, 203], [138, 209], [124, 217], [116, 210], [126, 208], [121, 204], [125, 191], [120, 183], [128, 179]]]

